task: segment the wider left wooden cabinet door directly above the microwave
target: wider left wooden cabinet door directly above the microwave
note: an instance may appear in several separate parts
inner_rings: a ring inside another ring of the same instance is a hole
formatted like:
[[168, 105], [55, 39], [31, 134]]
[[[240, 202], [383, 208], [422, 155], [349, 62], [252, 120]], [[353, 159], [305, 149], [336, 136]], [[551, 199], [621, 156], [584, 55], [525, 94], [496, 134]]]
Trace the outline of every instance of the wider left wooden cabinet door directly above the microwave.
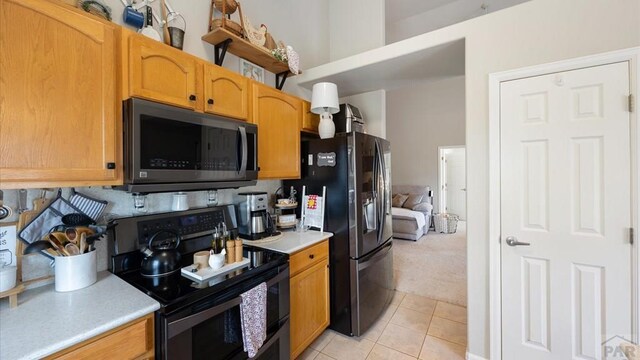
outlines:
[[202, 64], [163, 43], [129, 37], [129, 94], [188, 109], [201, 110]]

